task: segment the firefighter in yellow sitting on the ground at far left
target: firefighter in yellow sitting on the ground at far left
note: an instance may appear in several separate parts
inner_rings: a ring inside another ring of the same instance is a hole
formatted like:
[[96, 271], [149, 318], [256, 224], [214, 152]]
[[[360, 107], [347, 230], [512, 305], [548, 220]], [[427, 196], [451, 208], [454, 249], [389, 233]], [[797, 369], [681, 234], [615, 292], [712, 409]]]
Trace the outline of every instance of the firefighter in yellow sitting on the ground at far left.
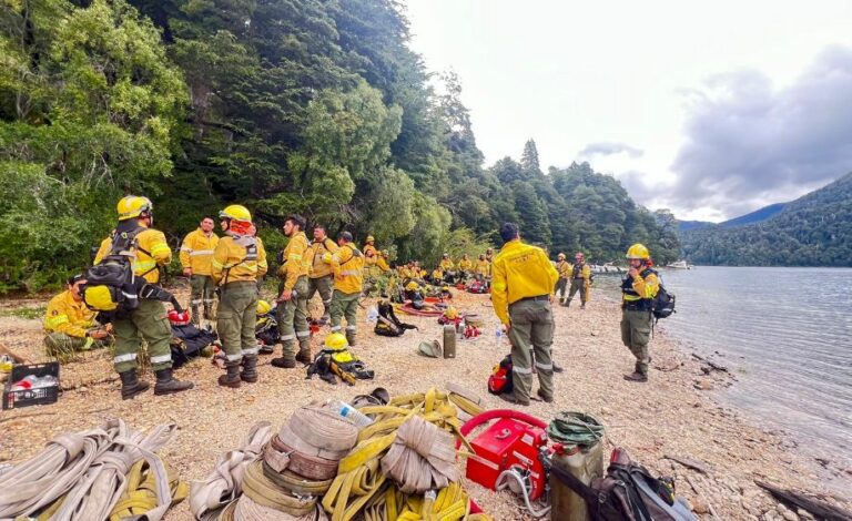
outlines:
[[83, 303], [80, 286], [84, 284], [83, 275], [70, 277], [65, 290], [48, 303], [44, 313], [44, 330], [48, 334], [44, 347], [50, 356], [85, 351], [111, 344], [110, 325], [99, 326], [94, 320], [94, 311]]

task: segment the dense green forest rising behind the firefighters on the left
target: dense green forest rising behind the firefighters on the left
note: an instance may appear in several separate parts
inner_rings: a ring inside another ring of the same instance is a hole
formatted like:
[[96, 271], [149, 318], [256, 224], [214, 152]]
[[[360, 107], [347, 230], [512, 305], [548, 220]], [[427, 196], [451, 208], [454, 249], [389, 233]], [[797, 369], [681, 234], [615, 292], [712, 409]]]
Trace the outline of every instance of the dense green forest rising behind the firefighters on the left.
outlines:
[[588, 164], [544, 172], [530, 140], [485, 167], [458, 78], [409, 39], [396, 0], [0, 0], [0, 293], [80, 269], [126, 193], [175, 244], [236, 202], [270, 249], [301, 213], [400, 260], [504, 221], [554, 256], [678, 255], [671, 214]]

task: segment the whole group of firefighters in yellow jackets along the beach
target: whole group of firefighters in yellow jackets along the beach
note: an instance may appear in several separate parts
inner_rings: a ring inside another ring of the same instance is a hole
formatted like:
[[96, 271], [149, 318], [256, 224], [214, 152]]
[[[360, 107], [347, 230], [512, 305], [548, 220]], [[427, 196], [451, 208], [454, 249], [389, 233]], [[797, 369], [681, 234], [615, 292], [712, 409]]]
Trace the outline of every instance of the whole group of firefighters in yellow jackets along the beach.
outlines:
[[[131, 236], [134, 239], [130, 254], [133, 273], [146, 285], [158, 287], [161, 268], [171, 262], [172, 252], [165, 235], [153, 227], [151, 201], [129, 195], [119, 202], [116, 210], [116, 227], [101, 244], [94, 264], [116, 253], [116, 241]], [[226, 374], [219, 378], [219, 384], [235, 388], [242, 382], [257, 381], [258, 282], [266, 274], [268, 264], [263, 242], [256, 235], [246, 207], [230, 205], [220, 212], [219, 221], [223, 236], [214, 233], [213, 218], [204, 217], [199, 228], [184, 238], [180, 260], [183, 275], [191, 283], [191, 316], [195, 320], [204, 317], [216, 323], [226, 356]], [[312, 361], [307, 303], [317, 293], [323, 302], [323, 321], [331, 321], [329, 337], [334, 336], [334, 344], [354, 346], [364, 276], [390, 270], [388, 253], [376, 249], [372, 236], [366, 238], [361, 251], [348, 232], [339, 233], [336, 241], [332, 241], [322, 225], [315, 225], [313, 241], [308, 241], [305, 228], [306, 222], [298, 215], [287, 217], [283, 226], [290, 241], [281, 254], [277, 270], [281, 283], [276, 320], [282, 356], [274, 358], [272, 366], [278, 368], [294, 368], [297, 361]], [[535, 364], [540, 382], [538, 395], [545, 401], [551, 401], [554, 320], [550, 306], [555, 294], [559, 293], [559, 303], [567, 306], [579, 292], [585, 307], [590, 269], [582, 254], [577, 254], [574, 265], [568, 264], [561, 253], [557, 263], [551, 263], [541, 248], [524, 244], [517, 226], [511, 223], [500, 228], [500, 236], [505, 244], [499, 253], [495, 256], [488, 248], [475, 263], [464, 255], [456, 264], [444, 254], [432, 279], [435, 282], [437, 277], [437, 280], [447, 282], [450, 277], [455, 280], [473, 276], [490, 285], [495, 313], [513, 345], [516, 384], [515, 395], [509, 400], [518, 405], [529, 402]], [[627, 257], [631, 268], [622, 285], [621, 335], [637, 364], [636, 371], [626, 378], [645, 381], [650, 360], [647, 347], [649, 302], [656, 295], [658, 284], [656, 272], [649, 267], [647, 248], [635, 245]], [[424, 275], [416, 262], [398, 267], [397, 272], [402, 278], [423, 278]], [[566, 299], [568, 280], [570, 293]], [[68, 280], [65, 292], [50, 300], [44, 320], [49, 353], [84, 350], [114, 337], [113, 364], [121, 376], [122, 398], [129, 399], [150, 387], [138, 375], [138, 357], [141, 340], [144, 340], [156, 375], [155, 395], [193, 387], [192, 382], [178, 380], [172, 375], [171, 326], [161, 299], [142, 296], [138, 307], [113, 314], [109, 321], [99, 325], [95, 313], [87, 307], [81, 294], [85, 284], [83, 275], [75, 275]]]

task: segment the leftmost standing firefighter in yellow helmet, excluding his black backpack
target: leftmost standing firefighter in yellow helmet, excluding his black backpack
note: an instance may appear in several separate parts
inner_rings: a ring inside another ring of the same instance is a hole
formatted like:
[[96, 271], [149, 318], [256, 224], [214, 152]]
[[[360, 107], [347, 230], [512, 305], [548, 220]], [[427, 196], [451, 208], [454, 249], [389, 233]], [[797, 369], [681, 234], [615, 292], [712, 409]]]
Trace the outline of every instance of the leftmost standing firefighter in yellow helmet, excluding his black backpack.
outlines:
[[[160, 268], [171, 263], [172, 251], [165, 242], [165, 235], [153, 229], [153, 205], [148, 197], [128, 195], [116, 206], [119, 224], [115, 234], [101, 245], [94, 258], [99, 264], [103, 257], [112, 254], [112, 244], [116, 237], [125, 234], [134, 236], [134, 256], [131, 260], [136, 277], [153, 286], [160, 283]], [[130, 313], [119, 313], [112, 319], [115, 331], [115, 357], [113, 365], [121, 376], [121, 398], [126, 400], [144, 392], [150, 386], [139, 380], [136, 357], [140, 337], [148, 344], [151, 367], [156, 375], [154, 395], [170, 395], [192, 389], [191, 381], [176, 380], [172, 376], [172, 327], [166, 318], [165, 306], [160, 300], [139, 298], [139, 306]]]

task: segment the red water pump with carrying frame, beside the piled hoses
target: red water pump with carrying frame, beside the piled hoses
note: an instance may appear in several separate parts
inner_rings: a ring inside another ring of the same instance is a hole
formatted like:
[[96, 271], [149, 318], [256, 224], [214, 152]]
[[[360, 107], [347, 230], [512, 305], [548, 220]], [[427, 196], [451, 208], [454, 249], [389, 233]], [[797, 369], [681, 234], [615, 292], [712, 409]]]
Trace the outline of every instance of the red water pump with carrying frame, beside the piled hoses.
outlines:
[[[491, 490], [506, 487], [521, 496], [527, 508], [545, 493], [547, 474], [539, 454], [548, 451], [547, 423], [524, 412], [495, 409], [475, 416], [462, 427], [467, 436], [477, 427], [497, 420], [470, 441], [475, 454], [467, 458], [467, 479]], [[548, 507], [549, 509], [549, 507]]]

